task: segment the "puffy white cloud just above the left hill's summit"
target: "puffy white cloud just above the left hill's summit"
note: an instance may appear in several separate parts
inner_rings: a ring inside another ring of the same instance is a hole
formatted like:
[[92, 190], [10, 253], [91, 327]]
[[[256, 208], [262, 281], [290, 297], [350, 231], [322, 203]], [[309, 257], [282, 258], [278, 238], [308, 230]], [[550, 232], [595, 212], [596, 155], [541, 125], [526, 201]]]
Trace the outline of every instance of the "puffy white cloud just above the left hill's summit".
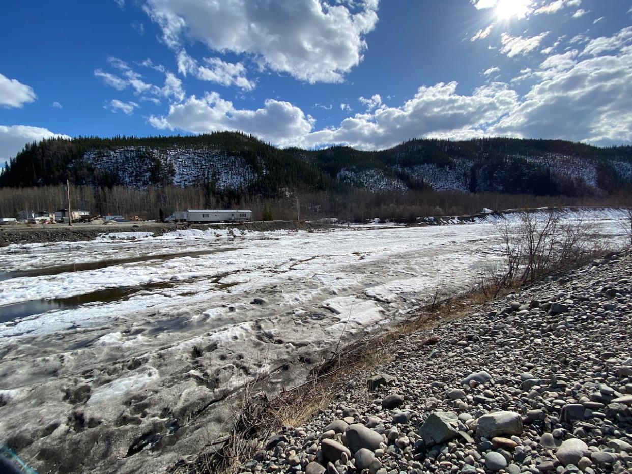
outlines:
[[285, 146], [300, 142], [312, 130], [314, 119], [289, 102], [267, 99], [262, 109], [235, 109], [232, 102], [210, 92], [171, 104], [167, 116], [150, 116], [149, 123], [160, 130], [193, 133], [240, 130]]

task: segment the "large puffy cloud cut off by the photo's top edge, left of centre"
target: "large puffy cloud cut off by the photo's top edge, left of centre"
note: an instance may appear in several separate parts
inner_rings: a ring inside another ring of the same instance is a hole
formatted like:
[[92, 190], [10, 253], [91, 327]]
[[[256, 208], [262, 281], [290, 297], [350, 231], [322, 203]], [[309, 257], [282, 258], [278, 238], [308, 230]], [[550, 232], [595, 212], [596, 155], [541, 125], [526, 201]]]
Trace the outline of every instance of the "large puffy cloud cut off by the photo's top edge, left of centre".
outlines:
[[199, 40], [212, 51], [245, 54], [262, 68], [315, 83], [341, 82], [362, 61], [378, 3], [147, 0], [144, 9], [176, 51], [185, 38]]

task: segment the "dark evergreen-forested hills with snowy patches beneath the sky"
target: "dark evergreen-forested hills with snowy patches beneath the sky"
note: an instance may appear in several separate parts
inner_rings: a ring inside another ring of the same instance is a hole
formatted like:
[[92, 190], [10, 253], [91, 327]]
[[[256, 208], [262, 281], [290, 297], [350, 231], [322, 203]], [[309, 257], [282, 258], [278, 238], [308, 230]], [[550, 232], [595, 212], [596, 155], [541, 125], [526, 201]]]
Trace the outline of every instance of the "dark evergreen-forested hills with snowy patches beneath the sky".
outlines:
[[411, 140], [387, 150], [277, 149], [236, 132], [195, 137], [51, 139], [28, 145], [0, 186], [204, 186], [217, 194], [289, 190], [499, 191], [594, 195], [629, 189], [632, 147], [552, 140]]

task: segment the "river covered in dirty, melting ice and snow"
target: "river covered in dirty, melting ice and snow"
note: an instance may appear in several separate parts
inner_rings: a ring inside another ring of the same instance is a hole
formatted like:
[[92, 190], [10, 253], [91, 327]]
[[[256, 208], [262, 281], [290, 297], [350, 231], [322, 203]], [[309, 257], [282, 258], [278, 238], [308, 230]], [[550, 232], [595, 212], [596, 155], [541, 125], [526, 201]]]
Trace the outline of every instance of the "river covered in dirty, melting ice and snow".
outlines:
[[[592, 219], [616, 240], [616, 217]], [[164, 470], [249, 380], [300, 383], [501, 254], [490, 223], [121, 235], [0, 249], [0, 442], [38, 471]]]

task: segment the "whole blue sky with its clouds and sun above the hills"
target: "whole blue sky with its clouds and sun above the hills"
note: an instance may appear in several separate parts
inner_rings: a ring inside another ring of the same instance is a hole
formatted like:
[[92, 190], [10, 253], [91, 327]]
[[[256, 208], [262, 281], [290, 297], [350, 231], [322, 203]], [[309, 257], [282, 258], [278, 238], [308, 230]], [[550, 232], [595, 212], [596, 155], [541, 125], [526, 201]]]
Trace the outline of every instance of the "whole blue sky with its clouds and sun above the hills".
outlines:
[[56, 134], [632, 143], [632, 0], [3, 4], [0, 163]]

